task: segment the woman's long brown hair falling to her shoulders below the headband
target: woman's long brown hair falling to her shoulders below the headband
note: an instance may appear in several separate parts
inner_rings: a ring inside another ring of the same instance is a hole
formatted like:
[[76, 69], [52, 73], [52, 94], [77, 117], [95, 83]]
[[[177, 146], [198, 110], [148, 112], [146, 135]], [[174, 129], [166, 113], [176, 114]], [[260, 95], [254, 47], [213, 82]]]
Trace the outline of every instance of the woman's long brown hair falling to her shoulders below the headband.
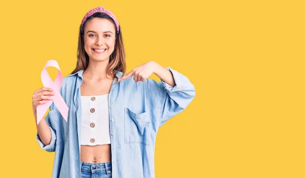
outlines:
[[[78, 72], [78, 70], [80, 70], [80, 69], [83, 69], [83, 70], [86, 69], [89, 64], [89, 56], [86, 53], [85, 47], [84, 47], [83, 33], [84, 33], [84, 28], [85, 28], [86, 22], [95, 17], [109, 19], [115, 26], [113, 19], [110, 16], [108, 16], [107, 14], [104, 14], [101, 12], [97, 12], [86, 19], [86, 21], [83, 24], [83, 29], [82, 29], [83, 32], [81, 32], [81, 25], [79, 26], [77, 63], [76, 63], [75, 69], [73, 70], [73, 72], [71, 74]], [[125, 49], [124, 49], [123, 37], [122, 37], [120, 25], [119, 25], [118, 33], [117, 33], [117, 28], [115, 26], [114, 50], [109, 57], [109, 64], [106, 68], [106, 71], [107, 71], [106, 74], [110, 75], [112, 78], [117, 79], [114, 70], [117, 70], [117, 72], [122, 72], [123, 75], [126, 72]]]

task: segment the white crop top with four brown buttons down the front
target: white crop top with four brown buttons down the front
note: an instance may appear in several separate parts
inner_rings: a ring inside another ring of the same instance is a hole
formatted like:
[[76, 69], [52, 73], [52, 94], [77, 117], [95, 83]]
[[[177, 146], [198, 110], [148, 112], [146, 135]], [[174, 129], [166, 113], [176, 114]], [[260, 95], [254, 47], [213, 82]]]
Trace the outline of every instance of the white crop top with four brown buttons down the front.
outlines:
[[81, 96], [81, 145], [110, 144], [108, 95]]

